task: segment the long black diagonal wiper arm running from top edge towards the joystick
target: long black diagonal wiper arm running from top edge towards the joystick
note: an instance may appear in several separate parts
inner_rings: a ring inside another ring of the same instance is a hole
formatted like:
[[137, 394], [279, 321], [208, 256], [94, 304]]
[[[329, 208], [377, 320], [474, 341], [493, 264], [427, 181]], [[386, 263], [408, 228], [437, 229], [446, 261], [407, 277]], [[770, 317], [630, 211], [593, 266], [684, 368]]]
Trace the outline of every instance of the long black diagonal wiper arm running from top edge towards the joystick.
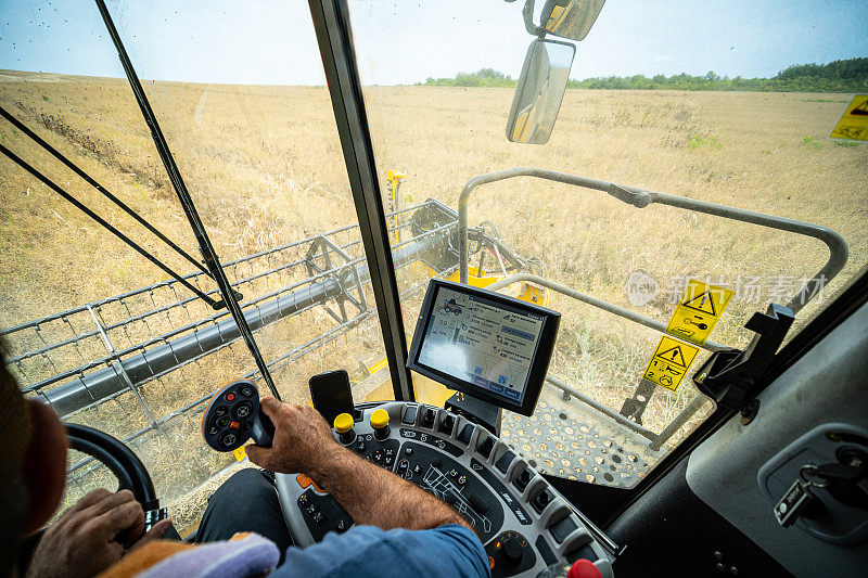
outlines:
[[217, 252], [214, 251], [210, 239], [208, 239], [208, 233], [205, 231], [205, 226], [202, 224], [202, 219], [199, 217], [199, 213], [196, 211], [195, 205], [193, 205], [193, 200], [190, 196], [190, 192], [187, 190], [187, 185], [181, 178], [180, 170], [178, 170], [178, 165], [175, 164], [175, 157], [171, 155], [168, 142], [166, 142], [166, 138], [163, 136], [163, 131], [159, 129], [154, 111], [151, 108], [151, 103], [148, 102], [148, 95], [144, 93], [142, 84], [139, 81], [136, 69], [132, 67], [132, 62], [129, 59], [129, 54], [127, 54], [127, 50], [124, 48], [124, 42], [120, 41], [120, 35], [117, 34], [117, 28], [115, 28], [115, 23], [112, 21], [112, 15], [108, 13], [108, 9], [105, 8], [105, 1], [95, 0], [95, 2], [97, 8], [100, 10], [100, 14], [102, 15], [102, 20], [105, 23], [105, 27], [108, 30], [108, 36], [112, 37], [112, 42], [115, 44], [117, 56], [120, 59], [120, 64], [124, 66], [124, 72], [127, 75], [127, 80], [129, 80], [132, 93], [136, 97], [136, 101], [139, 103], [139, 108], [142, 112], [142, 116], [144, 116], [144, 121], [148, 125], [148, 128], [151, 129], [151, 137], [154, 140], [154, 145], [156, 145], [156, 151], [159, 154], [159, 158], [163, 160], [163, 165], [166, 167], [166, 172], [171, 181], [171, 185], [175, 188], [175, 193], [178, 195], [178, 201], [181, 203], [181, 207], [187, 215], [187, 220], [190, 221], [190, 227], [193, 230], [193, 235], [195, 235], [196, 241], [199, 242], [202, 257], [205, 259], [205, 265], [207, 266], [208, 270], [210, 270], [214, 281], [217, 282], [217, 286], [220, 288], [220, 295], [222, 295], [226, 307], [232, 314], [232, 319], [235, 320], [239, 332], [241, 333], [241, 336], [244, 337], [244, 343], [247, 345], [247, 349], [250, 349], [254, 361], [256, 361], [256, 368], [263, 375], [263, 380], [271, 390], [271, 395], [273, 395], [277, 399], [280, 399], [280, 394], [278, 393], [278, 388], [275, 386], [275, 381], [271, 377], [271, 372], [268, 370], [268, 364], [265, 362], [263, 354], [259, 351], [259, 346], [256, 344], [256, 339], [253, 337], [253, 332], [251, 331], [247, 320], [244, 317], [244, 312], [241, 310], [241, 306], [238, 304], [235, 292], [232, 290], [232, 285], [229, 283], [229, 279], [226, 277], [226, 272], [220, 266], [220, 261], [217, 258]]

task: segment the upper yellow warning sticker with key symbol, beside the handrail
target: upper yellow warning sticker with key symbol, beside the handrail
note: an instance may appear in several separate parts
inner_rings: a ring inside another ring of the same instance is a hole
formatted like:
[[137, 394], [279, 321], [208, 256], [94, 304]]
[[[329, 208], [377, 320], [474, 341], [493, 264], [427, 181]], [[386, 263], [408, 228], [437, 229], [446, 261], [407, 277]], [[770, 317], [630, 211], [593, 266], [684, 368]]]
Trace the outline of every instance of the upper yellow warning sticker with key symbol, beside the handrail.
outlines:
[[702, 345], [724, 314], [732, 291], [691, 279], [666, 325], [666, 333]]

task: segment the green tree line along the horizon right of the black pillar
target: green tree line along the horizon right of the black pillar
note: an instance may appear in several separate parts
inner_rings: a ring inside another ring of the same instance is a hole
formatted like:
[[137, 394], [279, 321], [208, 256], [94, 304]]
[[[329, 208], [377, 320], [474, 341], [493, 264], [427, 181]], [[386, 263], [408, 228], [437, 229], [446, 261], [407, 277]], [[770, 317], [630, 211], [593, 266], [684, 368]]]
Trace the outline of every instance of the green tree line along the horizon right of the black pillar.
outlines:
[[[676, 74], [607, 76], [570, 80], [567, 88], [601, 90], [752, 90], [765, 92], [861, 92], [868, 79], [868, 57], [847, 59], [828, 64], [795, 64], [773, 78], [719, 76], [709, 72], [703, 76]], [[420, 86], [434, 87], [514, 87], [518, 80], [494, 68], [475, 73], [458, 73], [454, 78], [427, 78]]]

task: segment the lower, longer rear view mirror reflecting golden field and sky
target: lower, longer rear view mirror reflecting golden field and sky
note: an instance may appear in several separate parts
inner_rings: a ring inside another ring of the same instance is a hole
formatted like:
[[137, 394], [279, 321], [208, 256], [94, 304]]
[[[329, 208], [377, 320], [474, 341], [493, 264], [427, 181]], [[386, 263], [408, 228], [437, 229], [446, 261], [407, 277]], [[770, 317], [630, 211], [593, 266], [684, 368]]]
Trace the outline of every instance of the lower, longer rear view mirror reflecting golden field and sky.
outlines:
[[566, 42], [531, 42], [507, 120], [507, 139], [525, 144], [549, 141], [575, 53]]

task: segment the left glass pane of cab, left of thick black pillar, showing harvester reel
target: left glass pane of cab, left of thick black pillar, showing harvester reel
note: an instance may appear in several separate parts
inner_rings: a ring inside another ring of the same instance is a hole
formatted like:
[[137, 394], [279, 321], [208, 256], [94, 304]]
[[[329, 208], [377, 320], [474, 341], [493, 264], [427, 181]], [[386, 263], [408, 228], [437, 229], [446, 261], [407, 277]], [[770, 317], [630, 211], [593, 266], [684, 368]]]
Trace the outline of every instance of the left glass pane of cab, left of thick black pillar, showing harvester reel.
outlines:
[[[336, 368], [358, 391], [380, 385], [370, 369], [384, 357], [382, 336], [309, 11], [280, 3], [108, 9], [282, 399], [307, 402], [308, 378]], [[3, 41], [0, 105], [201, 260], [95, 5], [2, 11], [2, 36], [15, 39]], [[0, 139], [193, 287], [219, 297], [205, 273], [21, 130], [5, 124]], [[180, 531], [195, 528], [210, 490], [247, 465], [203, 444], [208, 397], [240, 377], [268, 393], [234, 322], [56, 191], [8, 158], [0, 163], [0, 327], [12, 371], [65, 421], [130, 445]], [[358, 275], [337, 274], [356, 268]], [[106, 486], [105, 477], [73, 452], [66, 502]]]

